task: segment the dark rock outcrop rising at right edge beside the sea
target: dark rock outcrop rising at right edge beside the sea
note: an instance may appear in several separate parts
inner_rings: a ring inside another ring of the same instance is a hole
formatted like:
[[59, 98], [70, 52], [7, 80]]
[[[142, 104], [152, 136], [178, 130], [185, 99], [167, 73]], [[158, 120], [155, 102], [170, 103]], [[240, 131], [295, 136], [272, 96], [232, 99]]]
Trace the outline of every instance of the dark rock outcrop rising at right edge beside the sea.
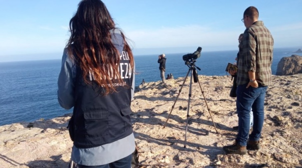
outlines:
[[302, 56], [283, 57], [278, 62], [276, 75], [294, 75], [302, 73]]

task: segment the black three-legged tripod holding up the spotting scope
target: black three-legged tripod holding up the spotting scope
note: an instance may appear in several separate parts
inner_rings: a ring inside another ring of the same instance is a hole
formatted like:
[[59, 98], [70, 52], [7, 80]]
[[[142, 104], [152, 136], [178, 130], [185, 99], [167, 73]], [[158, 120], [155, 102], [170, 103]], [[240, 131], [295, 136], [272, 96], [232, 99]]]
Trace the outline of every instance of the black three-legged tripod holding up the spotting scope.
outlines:
[[191, 92], [192, 92], [192, 77], [194, 78], [194, 82], [195, 82], [195, 83], [198, 82], [198, 84], [199, 84], [199, 87], [200, 87], [200, 89], [201, 89], [201, 93], [202, 93], [202, 95], [203, 95], [203, 99], [204, 99], [205, 105], [206, 105], [206, 107], [207, 107], [207, 111], [208, 111], [208, 113], [209, 113], [209, 115], [210, 115], [210, 117], [211, 117], [211, 119], [212, 119], [212, 122], [213, 122], [213, 125], [214, 125], [214, 128], [215, 128], [216, 134], [218, 134], [218, 132], [217, 132], [217, 130], [216, 130], [215, 123], [214, 123], [213, 118], [212, 118], [212, 115], [211, 115], [211, 112], [210, 112], [210, 110], [209, 110], [209, 108], [208, 108], [208, 106], [207, 106], [206, 99], [205, 99], [205, 97], [204, 97], [204, 94], [203, 94], [203, 91], [202, 91], [200, 82], [199, 82], [199, 80], [198, 80], [198, 75], [197, 75], [197, 72], [196, 72], [196, 68], [197, 68], [199, 71], [200, 71], [200, 68], [198, 68], [197, 66], [195, 66], [195, 62], [196, 62], [196, 60], [194, 60], [194, 59], [190, 59], [190, 60], [188, 60], [188, 61], [185, 62], [185, 64], [189, 67], [189, 70], [187, 71], [186, 76], [185, 76], [185, 78], [184, 78], [184, 80], [183, 80], [183, 83], [182, 83], [182, 85], [181, 85], [181, 87], [180, 87], [180, 89], [179, 89], [178, 95], [177, 95], [177, 97], [176, 97], [176, 100], [174, 101], [174, 104], [173, 104], [173, 106], [172, 106], [172, 109], [171, 109], [171, 111], [170, 111], [170, 114], [168, 115], [168, 117], [167, 117], [167, 119], [166, 119], [166, 122], [165, 122], [165, 124], [163, 125], [163, 128], [165, 128], [165, 125], [166, 125], [166, 123], [168, 122], [168, 119], [169, 119], [169, 117], [170, 117], [170, 115], [171, 115], [171, 113], [172, 113], [172, 110], [174, 109], [174, 105], [175, 105], [175, 103], [176, 103], [176, 101], [177, 101], [177, 99], [178, 99], [178, 96], [180, 95], [180, 92], [181, 92], [181, 89], [182, 89], [182, 87], [183, 87], [183, 84], [184, 84], [184, 82], [185, 82], [185, 80], [186, 80], [186, 78], [187, 78], [189, 72], [191, 71], [190, 87], [189, 87], [189, 95], [188, 95], [189, 97], [188, 97], [188, 102], [187, 102], [186, 126], [185, 126], [185, 136], [184, 136], [184, 147], [183, 147], [183, 148], [185, 148], [185, 144], [186, 144], [186, 132], [187, 132], [188, 117], [189, 117], [189, 114], [188, 114], [188, 113], [189, 113], [189, 109], [190, 109], [190, 99], [191, 99]]

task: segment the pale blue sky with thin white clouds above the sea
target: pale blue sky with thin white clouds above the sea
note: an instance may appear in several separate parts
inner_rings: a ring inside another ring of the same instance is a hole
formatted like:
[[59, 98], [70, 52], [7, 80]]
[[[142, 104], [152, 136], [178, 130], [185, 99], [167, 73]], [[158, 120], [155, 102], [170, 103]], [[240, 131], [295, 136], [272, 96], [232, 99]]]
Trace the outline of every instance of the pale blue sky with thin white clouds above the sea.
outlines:
[[[0, 62], [60, 59], [79, 0], [0, 0]], [[103, 0], [134, 55], [235, 50], [253, 5], [274, 47], [302, 48], [302, 0]]]

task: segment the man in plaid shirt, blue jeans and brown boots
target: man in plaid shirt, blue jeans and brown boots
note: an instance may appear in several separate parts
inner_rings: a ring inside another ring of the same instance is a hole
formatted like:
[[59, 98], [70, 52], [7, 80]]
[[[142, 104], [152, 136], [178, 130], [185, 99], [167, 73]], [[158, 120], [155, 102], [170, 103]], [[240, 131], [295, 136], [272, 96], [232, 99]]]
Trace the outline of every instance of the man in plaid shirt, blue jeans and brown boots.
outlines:
[[[263, 21], [258, 21], [258, 15], [257, 8], [249, 6], [241, 20], [246, 29], [242, 38], [242, 54], [238, 55], [237, 65], [236, 106], [239, 128], [235, 144], [223, 147], [226, 154], [244, 155], [247, 153], [246, 149], [260, 149], [264, 98], [267, 86], [271, 83], [273, 38]], [[248, 136], [251, 108], [253, 128]]]

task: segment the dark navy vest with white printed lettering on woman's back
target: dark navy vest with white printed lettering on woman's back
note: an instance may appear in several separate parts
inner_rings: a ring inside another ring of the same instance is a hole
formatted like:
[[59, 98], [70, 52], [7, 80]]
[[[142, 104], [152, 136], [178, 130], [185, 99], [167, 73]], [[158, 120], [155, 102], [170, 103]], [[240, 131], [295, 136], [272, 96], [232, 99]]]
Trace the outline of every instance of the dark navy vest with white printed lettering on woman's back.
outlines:
[[[122, 44], [122, 41], [119, 43]], [[73, 144], [77, 148], [98, 147], [120, 140], [132, 133], [130, 87], [133, 72], [129, 70], [127, 53], [122, 51], [120, 54], [119, 72], [122, 82], [113, 82], [111, 87], [114, 87], [117, 92], [105, 96], [102, 94], [104, 88], [94, 82], [93, 75], [92, 78], [90, 75], [86, 76], [90, 82], [86, 84], [80, 67], [76, 66], [75, 104], [72, 117], [74, 121]]]

